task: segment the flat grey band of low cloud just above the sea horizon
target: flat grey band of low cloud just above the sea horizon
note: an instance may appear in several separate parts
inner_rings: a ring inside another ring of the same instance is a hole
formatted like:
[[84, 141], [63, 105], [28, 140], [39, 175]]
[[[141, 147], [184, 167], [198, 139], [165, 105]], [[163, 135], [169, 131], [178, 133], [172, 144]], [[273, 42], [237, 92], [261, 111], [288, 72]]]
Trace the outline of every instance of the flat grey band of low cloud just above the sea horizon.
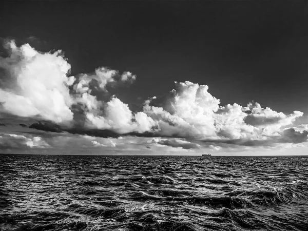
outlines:
[[[278, 139], [278, 138], [277, 138]], [[280, 137], [280, 139], [282, 139]], [[294, 141], [294, 140], [293, 140]], [[249, 143], [250, 142], [250, 143]], [[66, 155], [100, 155], [102, 153], [118, 155], [200, 155], [201, 153], [263, 153], [263, 151], [300, 148], [307, 145], [303, 143], [285, 143], [280, 140], [274, 143], [254, 143], [252, 141], [230, 141], [224, 142], [200, 142], [188, 141], [179, 138], [146, 138], [123, 136], [118, 138], [99, 138], [68, 132], [23, 132], [23, 133], [0, 133], [0, 152], [12, 153], [54, 153]], [[287, 141], [290, 142], [290, 141]], [[262, 152], [261, 152], [262, 151]], [[265, 153], [265, 152], [264, 152]], [[267, 154], [269, 152], [266, 152]], [[237, 155], [237, 154], [236, 154]]]

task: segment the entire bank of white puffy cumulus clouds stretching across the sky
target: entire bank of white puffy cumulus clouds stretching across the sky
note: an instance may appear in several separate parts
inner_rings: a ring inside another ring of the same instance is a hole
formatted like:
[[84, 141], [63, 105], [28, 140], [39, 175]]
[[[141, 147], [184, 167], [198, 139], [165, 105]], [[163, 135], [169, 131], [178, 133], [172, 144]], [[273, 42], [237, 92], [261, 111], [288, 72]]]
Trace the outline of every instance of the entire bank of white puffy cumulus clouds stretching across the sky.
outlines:
[[14, 41], [6, 48], [8, 56], [0, 57], [0, 110], [46, 121], [30, 125], [33, 129], [103, 138], [169, 137], [156, 143], [185, 149], [199, 147], [192, 141], [273, 146], [307, 140], [306, 125], [292, 128], [303, 115], [300, 111], [284, 114], [258, 103], [220, 106], [207, 85], [186, 81], [175, 82], [164, 97], [150, 98], [142, 111], [132, 112], [115, 95], [99, 97], [108, 86], [136, 81], [131, 72], [98, 67], [70, 76], [61, 51], [43, 53], [28, 44], [17, 47]]

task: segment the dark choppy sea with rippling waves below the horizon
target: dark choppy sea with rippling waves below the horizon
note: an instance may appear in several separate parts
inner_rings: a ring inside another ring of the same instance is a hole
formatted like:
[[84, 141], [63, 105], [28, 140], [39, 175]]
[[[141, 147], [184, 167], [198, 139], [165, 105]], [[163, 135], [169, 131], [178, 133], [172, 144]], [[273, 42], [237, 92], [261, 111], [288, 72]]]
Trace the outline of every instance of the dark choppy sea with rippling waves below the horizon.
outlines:
[[308, 157], [0, 155], [0, 230], [308, 230]]

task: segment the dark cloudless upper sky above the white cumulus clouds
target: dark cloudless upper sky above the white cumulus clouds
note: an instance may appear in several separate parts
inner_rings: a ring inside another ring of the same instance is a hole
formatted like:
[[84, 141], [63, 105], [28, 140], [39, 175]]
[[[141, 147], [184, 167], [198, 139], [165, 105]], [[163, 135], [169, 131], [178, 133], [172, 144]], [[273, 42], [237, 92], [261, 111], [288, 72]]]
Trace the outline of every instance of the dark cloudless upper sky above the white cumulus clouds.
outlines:
[[137, 74], [125, 103], [191, 81], [222, 104], [308, 112], [307, 2], [1, 1], [0, 36], [62, 49], [72, 74]]

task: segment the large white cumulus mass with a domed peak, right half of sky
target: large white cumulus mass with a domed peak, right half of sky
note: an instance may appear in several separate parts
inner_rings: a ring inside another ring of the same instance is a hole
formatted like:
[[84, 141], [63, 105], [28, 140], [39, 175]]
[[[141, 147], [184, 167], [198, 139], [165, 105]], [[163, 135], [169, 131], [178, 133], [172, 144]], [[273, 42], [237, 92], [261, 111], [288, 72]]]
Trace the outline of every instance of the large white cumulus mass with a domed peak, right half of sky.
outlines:
[[[155, 104], [159, 101], [159, 106]], [[264, 140], [279, 136], [283, 127], [292, 124], [302, 112], [286, 115], [260, 104], [219, 106], [219, 100], [206, 85], [176, 83], [163, 100], [146, 101], [144, 112], [159, 125], [160, 136], [196, 140]]]

